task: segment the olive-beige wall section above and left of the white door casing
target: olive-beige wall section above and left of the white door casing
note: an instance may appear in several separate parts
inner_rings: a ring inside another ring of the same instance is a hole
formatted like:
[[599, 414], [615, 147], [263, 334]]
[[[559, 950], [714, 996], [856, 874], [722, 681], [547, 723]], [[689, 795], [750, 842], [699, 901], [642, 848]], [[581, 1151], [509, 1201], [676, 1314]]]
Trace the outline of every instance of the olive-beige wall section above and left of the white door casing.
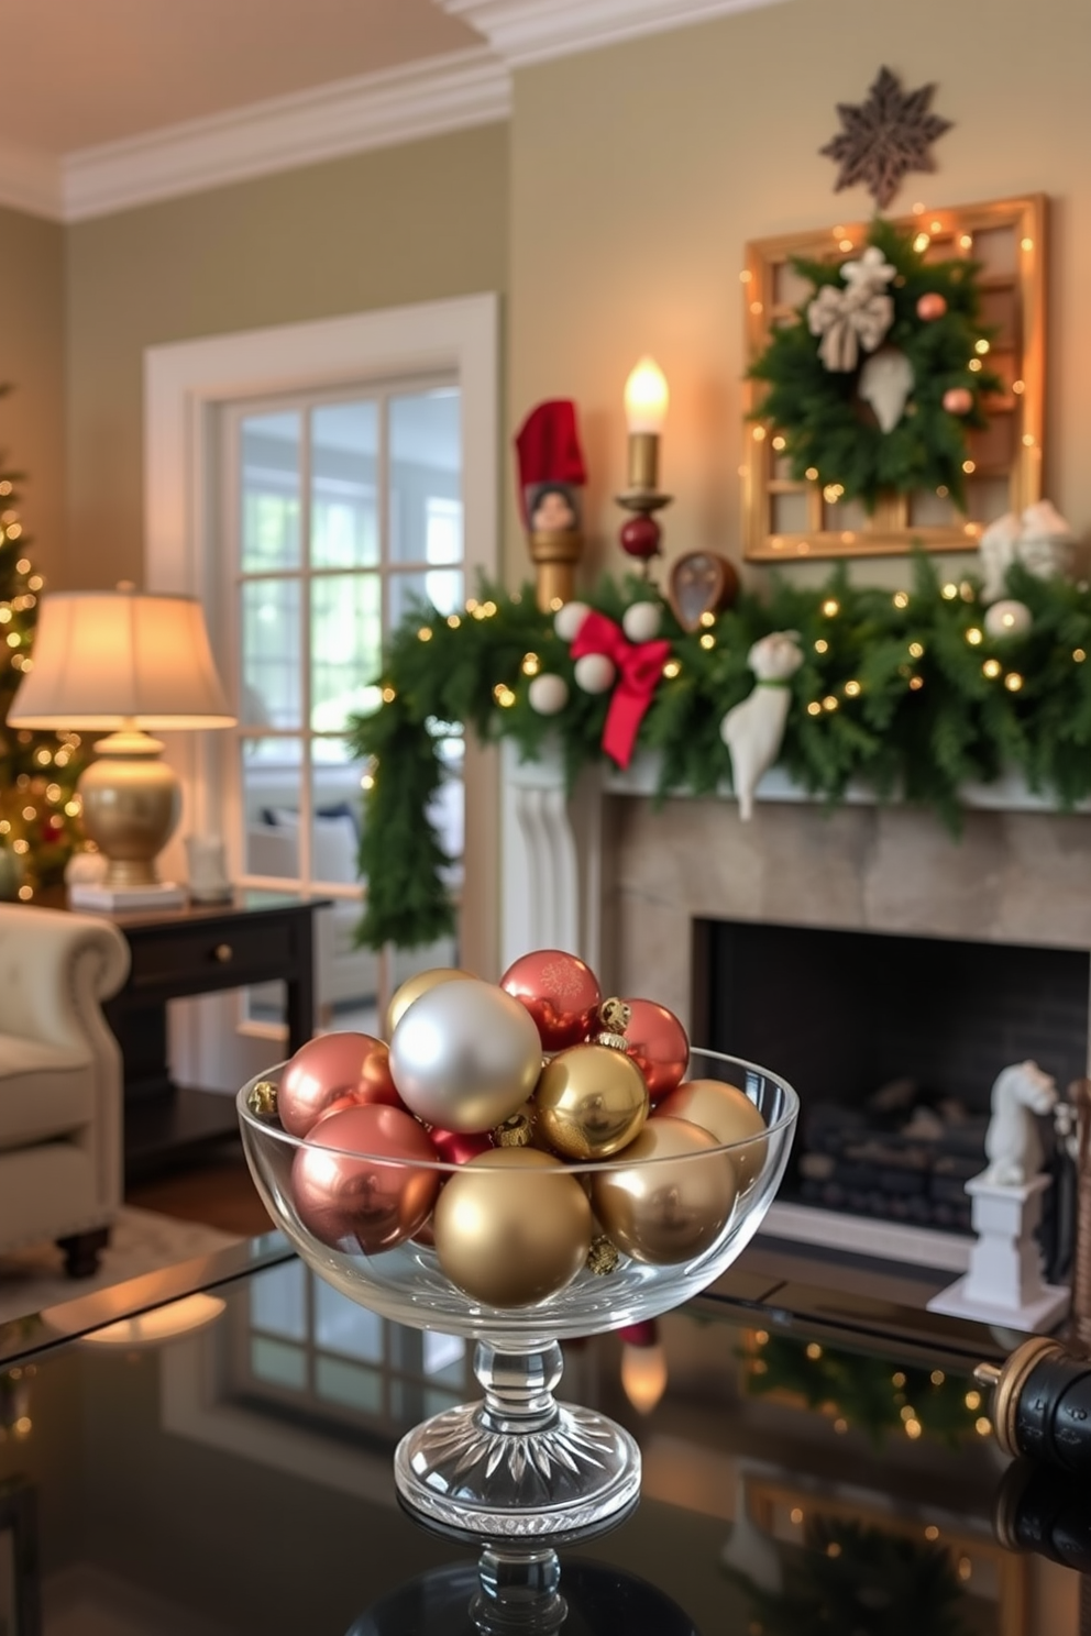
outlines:
[[144, 348], [504, 290], [507, 128], [82, 222], [67, 250], [64, 582], [139, 581]]

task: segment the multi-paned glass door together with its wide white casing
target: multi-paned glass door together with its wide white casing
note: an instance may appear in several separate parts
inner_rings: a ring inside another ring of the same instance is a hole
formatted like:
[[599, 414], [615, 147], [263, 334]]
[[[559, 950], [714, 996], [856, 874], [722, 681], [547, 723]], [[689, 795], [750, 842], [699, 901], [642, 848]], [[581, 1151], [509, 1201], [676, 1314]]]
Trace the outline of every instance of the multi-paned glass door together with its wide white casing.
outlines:
[[[414, 596], [443, 605], [497, 571], [497, 299], [483, 294], [146, 353], [147, 586], [203, 597], [224, 681], [240, 708], [245, 689], [249, 718], [234, 735], [172, 744], [183, 823], [231, 839], [247, 890], [334, 900], [319, 916], [316, 975], [335, 1027], [365, 1026], [360, 1003], [381, 995], [386, 964], [353, 947], [361, 888], [355, 820], [342, 808], [358, 813], [366, 769], [347, 762], [339, 726], [366, 697], [381, 630]], [[440, 479], [437, 460], [422, 484], [422, 448], [442, 442], [453, 414], [458, 481], [450, 470]], [[451, 777], [435, 818], [460, 852], [461, 741], [445, 751]], [[479, 969], [497, 955], [481, 910], [497, 859], [492, 779], [486, 767], [471, 780], [479, 816], [460, 910], [460, 951]], [[185, 879], [180, 841], [165, 862]], [[406, 967], [451, 957], [419, 949]], [[397, 960], [386, 987], [399, 980]], [[280, 1003], [272, 991], [242, 1013], [231, 996], [180, 1003], [175, 1076], [234, 1090], [260, 1072]]]

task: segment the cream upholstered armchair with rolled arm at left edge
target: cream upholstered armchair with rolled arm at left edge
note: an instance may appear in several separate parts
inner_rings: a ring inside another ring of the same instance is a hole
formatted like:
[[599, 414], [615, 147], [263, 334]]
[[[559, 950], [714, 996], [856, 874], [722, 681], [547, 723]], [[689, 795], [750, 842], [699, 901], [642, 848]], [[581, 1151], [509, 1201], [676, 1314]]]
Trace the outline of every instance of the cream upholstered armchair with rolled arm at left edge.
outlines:
[[0, 1252], [54, 1238], [75, 1278], [121, 1204], [121, 1052], [101, 1003], [128, 970], [113, 923], [0, 903]]

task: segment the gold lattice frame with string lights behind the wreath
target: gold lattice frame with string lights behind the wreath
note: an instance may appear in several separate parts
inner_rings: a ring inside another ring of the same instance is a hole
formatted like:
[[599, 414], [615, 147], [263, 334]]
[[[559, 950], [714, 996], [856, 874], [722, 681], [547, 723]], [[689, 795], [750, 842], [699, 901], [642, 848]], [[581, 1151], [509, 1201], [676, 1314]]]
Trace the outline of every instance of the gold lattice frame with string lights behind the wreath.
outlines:
[[[985, 527], [1003, 512], [1022, 512], [1042, 497], [1045, 411], [1045, 195], [921, 209], [896, 218], [914, 227], [918, 249], [937, 260], [967, 257], [981, 263], [983, 321], [996, 330], [990, 366], [1006, 391], [988, 404], [990, 425], [968, 432], [973, 461], [967, 509], [932, 492], [898, 494], [869, 515], [859, 502], [829, 499], [819, 483], [797, 481], [780, 456], [775, 429], [746, 420], [743, 465], [743, 542], [751, 563], [793, 558], [901, 556], [975, 550]], [[844, 258], [865, 242], [867, 222], [756, 239], [741, 273], [746, 358], [765, 350], [775, 324], [787, 322], [806, 285], [792, 258]], [[765, 386], [746, 380], [744, 414], [761, 409]]]

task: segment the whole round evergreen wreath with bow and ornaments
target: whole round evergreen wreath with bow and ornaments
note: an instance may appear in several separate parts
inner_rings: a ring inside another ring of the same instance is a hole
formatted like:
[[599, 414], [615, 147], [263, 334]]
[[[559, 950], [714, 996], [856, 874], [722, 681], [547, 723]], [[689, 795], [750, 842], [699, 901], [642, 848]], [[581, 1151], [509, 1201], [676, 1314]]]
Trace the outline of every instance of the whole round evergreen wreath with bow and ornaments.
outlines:
[[811, 293], [749, 370], [769, 383], [751, 419], [783, 438], [792, 476], [869, 512], [921, 489], [965, 509], [967, 430], [988, 425], [986, 401], [1004, 391], [985, 365], [980, 265], [927, 262], [924, 249], [880, 219], [855, 258], [793, 257]]

